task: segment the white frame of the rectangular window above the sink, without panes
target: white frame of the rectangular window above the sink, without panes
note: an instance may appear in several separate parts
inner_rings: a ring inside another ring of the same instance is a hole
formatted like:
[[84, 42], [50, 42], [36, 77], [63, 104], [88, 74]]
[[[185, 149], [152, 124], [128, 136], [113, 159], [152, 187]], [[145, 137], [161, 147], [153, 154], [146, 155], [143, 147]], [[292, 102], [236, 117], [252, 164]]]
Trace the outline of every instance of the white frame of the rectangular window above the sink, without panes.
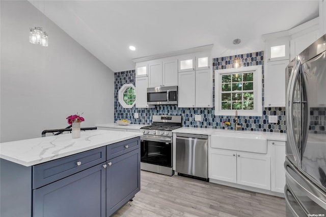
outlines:
[[222, 75], [224, 74], [239, 74], [239, 73], [254, 73], [254, 109], [253, 110], [238, 110], [238, 116], [262, 116], [262, 66], [248, 66], [231, 69], [215, 70], [215, 115], [235, 115], [235, 110], [222, 110], [221, 103], [221, 85]]

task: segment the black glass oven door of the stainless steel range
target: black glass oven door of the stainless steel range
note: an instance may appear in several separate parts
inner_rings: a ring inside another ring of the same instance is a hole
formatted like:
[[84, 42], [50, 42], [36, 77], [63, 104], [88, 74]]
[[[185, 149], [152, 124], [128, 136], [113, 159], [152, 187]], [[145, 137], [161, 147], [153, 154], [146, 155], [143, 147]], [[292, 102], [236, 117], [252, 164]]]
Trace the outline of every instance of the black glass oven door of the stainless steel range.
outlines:
[[171, 138], [141, 137], [141, 162], [172, 168]]

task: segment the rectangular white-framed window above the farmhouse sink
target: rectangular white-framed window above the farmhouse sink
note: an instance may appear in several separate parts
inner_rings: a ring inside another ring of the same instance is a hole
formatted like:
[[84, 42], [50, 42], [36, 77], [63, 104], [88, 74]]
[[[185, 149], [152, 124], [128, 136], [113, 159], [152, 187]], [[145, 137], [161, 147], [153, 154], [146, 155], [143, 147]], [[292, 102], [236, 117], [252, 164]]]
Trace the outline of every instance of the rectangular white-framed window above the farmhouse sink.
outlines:
[[215, 70], [215, 115], [262, 116], [261, 66]]

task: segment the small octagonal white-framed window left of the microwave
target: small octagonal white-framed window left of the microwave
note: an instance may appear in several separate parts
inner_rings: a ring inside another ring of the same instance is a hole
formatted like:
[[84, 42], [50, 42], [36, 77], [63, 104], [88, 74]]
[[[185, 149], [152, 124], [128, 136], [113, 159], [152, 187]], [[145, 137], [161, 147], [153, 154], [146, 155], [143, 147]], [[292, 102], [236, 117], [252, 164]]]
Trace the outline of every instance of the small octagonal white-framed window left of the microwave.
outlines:
[[131, 108], [136, 101], [135, 87], [132, 84], [123, 85], [118, 93], [119, 102], [124, 108]]

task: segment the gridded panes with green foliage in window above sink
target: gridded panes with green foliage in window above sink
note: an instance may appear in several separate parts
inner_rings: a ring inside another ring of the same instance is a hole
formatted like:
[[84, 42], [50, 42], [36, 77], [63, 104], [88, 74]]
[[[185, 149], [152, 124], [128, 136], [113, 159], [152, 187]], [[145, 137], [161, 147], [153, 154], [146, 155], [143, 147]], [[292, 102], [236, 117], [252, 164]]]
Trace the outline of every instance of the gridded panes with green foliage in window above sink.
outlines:
[[254, 110], [254, 73], [222, 75], [222, 110]]

